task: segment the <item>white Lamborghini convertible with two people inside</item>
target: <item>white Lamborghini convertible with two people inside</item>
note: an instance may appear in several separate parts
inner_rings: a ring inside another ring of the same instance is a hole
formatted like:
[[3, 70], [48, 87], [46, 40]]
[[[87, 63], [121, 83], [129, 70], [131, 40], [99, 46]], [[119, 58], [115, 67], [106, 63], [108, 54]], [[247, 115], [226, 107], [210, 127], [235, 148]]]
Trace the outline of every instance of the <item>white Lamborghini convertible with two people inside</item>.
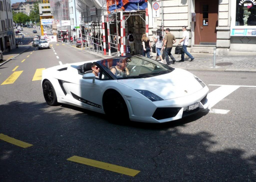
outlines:
[[43, 70], [42, 88], [49, 105], [70, 104], [120, 122], [173, 121], [209, 106], [199, 78], [143, 56], [54, 66]]

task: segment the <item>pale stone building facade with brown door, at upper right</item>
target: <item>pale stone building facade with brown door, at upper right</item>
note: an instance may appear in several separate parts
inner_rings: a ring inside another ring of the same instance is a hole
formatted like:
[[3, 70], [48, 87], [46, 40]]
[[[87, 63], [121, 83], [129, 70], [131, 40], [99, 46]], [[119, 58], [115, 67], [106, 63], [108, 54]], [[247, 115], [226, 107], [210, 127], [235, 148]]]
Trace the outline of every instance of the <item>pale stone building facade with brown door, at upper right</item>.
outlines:
[[[212, 56], [214, 47], [218, 56], [256, 55], [256, 0], [158, 1], [163, 4], [163, 28], [179, 40], [186, 26], [193, 55]], [[151, 5], [148, 1], [149, 12]], [[149, 17], [150, 35], [161, 29], [161, 10], [159, 18]]]

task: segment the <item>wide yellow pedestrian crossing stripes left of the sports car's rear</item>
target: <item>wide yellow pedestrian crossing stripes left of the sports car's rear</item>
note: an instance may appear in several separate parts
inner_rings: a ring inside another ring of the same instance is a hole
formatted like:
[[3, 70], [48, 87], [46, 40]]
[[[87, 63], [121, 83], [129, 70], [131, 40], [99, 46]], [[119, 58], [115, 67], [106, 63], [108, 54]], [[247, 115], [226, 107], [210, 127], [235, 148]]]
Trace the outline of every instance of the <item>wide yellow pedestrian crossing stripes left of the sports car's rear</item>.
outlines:
[[[15, 71], [18, 68], [18, 66], [16, 66], [12, 71], [14, 71], [12, 73], [11, 76], [9, 76], [1, 85], [7, 85], [7, 84], [13, 84], [15, 83], [15, 81], [18, 80], [19, 76], [23, 73], [23, 71]], [[32, 77], [31, 81], [38, 81], [38, 80], [42, 80], [42, 71], [45, 68], [38, 68], [35, 70], [34, 76]]]

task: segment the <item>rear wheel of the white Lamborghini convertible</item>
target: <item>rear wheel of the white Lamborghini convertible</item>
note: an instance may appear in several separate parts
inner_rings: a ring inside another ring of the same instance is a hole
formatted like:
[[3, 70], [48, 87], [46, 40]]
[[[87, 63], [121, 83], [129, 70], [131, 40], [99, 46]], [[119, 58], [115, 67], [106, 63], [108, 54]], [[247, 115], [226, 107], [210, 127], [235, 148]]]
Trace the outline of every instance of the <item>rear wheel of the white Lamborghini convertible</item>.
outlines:
[[43, 84], [43, 94], [44, 94], [44, 99], [48, 105], [51, 105], [51, 106], [58, 105], [55, 89], [52, 83], [49, 82], [48, 80], [46, 80]]

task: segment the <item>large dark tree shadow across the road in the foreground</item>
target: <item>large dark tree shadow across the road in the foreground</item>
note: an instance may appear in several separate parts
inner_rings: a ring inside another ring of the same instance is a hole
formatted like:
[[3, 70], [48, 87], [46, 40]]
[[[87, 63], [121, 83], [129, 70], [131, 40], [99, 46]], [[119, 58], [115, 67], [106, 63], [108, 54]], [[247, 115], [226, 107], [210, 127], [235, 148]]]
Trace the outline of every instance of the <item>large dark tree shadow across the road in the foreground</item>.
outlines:
[[[71, 110], [71, 109], [73, 110]], [[14, 101], [0, 105], [1, 133], [33, 144], [0, 141], [3, 181], [255, 181], [256, 156], [245, 150], [212, 151], [211, 128], [184, 129], [205, 113], [163, 125], [114, 125], [104, 115], [62, 105]], [[198, 125], [198, 127], [200, 127]], [[189, 129], [187, 129], [189, 130]], [[73, 163], [79, 155], [140, 170], [136, 177]], [[64, 175], [65, 174], [65, 175]]]

